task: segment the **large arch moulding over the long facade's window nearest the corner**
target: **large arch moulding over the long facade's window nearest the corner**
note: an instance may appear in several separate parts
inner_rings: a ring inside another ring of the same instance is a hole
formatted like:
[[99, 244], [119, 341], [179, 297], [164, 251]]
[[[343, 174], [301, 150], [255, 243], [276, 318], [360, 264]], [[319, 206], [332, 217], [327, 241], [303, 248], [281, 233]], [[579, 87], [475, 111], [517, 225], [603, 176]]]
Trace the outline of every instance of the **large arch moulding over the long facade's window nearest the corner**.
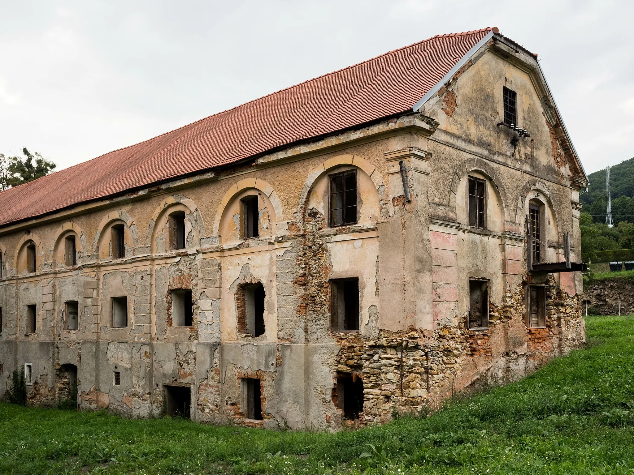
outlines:
[[328, 160], [324, 160], [318, 165], [318, 167], [314, 168], [313, 172], [308, 175], [306, 181], [304, 182], [304, 186], [302, 187], [301, 194], [299, 196], [299, 203], [297, 205], [297, 212], [295, 213], [295, 217], [298, 222], [302, 222], [304, 213], [306, 212], [306, 208], [309, 202], [309, 198], [311, 196], [311, 191], [316, 183], [320, 180], [320, 178], [331, 172], [334, 168], [344, 167], [344, 166], [352, 166], [363, 172], [364, 174], [370, 177], [372, 180], [375, 189], [378, 194], [378, 206], [380, 215], [386, 215], [389, 213], [389, 206], [391, 203], [389, 202], [389, 196], [385, 191], [385, 184], [383, 181], [383, 177], [380, 172], [378, 172], [377, 168], [372, 165], [372, 163], [368, 162], [365, 158], [360, 155], [338, 155], [333, 156], [332, 158], [328, 158]]

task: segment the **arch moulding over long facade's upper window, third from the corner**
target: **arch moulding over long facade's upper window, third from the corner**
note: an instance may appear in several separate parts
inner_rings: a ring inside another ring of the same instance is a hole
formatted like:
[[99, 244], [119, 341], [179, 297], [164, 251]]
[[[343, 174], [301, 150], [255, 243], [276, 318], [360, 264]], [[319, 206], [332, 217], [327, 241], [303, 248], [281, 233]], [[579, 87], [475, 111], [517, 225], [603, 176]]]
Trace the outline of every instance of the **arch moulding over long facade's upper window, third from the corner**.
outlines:
[[[159, 237], [164, 234], [165, 225], [169, 215], [174, 212], [183, 212], [185, 220], [191, 226], [189, 233], [185, 234], [185, 247], [197, 248], [200, 246], [200, 237], [205, 234], [205, 225], [202, 215], [198, 211], [198, 206], [193, 200], [182, 195], [168, 196], [154, 210], [150, 225], [148, 226], [148, 241], [152, 243], [152, 253], [167, 252], [165, 246], [158, 242]], [[188, 234], [190, 234], [190, 245], [188, 246]]]

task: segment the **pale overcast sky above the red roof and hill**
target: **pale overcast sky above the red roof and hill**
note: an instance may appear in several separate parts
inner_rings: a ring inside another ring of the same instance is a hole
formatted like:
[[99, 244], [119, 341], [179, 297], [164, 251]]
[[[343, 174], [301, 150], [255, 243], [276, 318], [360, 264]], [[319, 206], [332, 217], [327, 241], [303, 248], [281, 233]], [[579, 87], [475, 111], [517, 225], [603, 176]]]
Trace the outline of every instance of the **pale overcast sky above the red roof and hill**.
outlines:
[[65, 168], [435, 34], [539, 53], [586, 172], [634, 156], [631, 1], [0, 0], [0, 153]]

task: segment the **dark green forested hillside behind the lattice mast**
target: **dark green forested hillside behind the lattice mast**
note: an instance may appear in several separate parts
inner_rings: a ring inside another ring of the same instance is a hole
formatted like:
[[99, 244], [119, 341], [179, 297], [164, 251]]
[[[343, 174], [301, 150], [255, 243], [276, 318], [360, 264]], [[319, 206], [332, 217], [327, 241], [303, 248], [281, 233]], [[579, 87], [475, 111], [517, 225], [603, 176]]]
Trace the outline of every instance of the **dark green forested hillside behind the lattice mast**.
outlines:
[[[624, 160], [610, 169], [612, 191], [612, 219], [614, 224], [621, 221], [634, 222], [634, 158]], [[588, 175], [590, 187], [583, 193], [583, 212], [592, 216], [597, 223], [605, 222], [605, 170]]]

